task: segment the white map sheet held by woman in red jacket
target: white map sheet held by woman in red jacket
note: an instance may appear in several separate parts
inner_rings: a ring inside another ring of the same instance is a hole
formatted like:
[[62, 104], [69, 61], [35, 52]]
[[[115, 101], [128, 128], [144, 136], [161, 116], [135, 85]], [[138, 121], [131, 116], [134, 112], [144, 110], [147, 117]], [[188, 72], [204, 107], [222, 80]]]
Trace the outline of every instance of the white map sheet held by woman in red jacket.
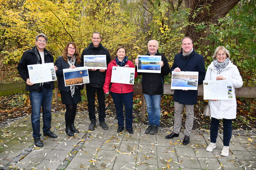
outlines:
[[135, 73], [135, 68], [113, 66], [111, 82], [133, 85], [134, 73]]

